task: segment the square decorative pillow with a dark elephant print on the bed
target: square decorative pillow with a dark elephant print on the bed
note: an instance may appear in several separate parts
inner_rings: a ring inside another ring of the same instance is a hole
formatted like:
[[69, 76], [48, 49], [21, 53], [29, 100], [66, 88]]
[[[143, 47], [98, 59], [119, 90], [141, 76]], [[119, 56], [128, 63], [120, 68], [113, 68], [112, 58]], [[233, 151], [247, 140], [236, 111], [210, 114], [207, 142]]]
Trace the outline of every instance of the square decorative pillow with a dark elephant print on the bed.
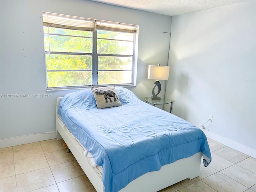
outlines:
[[122, 106], [114, 87], [94, 87], [92, 93], [98, 109]]

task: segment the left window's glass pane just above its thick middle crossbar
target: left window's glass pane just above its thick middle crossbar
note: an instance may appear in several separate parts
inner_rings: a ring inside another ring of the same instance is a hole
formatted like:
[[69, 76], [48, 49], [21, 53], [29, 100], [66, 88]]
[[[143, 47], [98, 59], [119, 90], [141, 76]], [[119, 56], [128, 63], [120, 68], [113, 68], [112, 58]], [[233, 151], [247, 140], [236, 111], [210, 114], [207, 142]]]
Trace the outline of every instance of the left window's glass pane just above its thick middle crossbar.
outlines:
[[[81, 37], [69, 37], [69, 36], [58, 36], [50, 35], [44, 36], [44, 43], [48, 44], [50, 41], [51, 52], [77, 52], [77, 53], [92, 53], [92, 38], [81, 38]], [[46, 49], [44, 50], [49, 51]]]

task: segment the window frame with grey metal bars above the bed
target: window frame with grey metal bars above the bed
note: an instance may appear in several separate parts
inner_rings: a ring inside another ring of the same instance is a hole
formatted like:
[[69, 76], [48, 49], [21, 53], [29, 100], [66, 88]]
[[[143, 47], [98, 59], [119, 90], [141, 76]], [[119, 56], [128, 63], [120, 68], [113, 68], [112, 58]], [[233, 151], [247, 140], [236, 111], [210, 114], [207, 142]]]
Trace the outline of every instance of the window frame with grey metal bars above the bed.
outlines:
[[[52, 14], [52, 13], [46, 13], [43, 12], [44, 14]], [[71, 18], [76, 18], [74, 16], [65, 16], [65, 15], [60, 15], [60, 14], [53, 14], [53, 15], [57, 15], [57, 16], [64, 16], [64, 17], [71, 17]], [[85, 20], [92, 20], [92, 19], [88, 19], [88, 18], [79, 18], [79, 19], [85, 19]], [[92, 20], [95, 21], [95, 23], [97, 22], [104, 22], [107, 24], [120, 24], [120, 23], [116, 23], [116, 22], [106, 22], [106, 21], [100, 21], [100, 20]], [[127, 26], [135, 26], [135, 25], [129, 25], [129, 24], [121, 24], [121, 25], [127, 25]], [[44, 23], [45, 26], [45, 23]], [[96, 24], [95, 24], [96, 26]], [[48, 24], [49, 27], [49, 24]], [[61, 28], [61, 27], [55, 27], [55, 28]], [[67, 29], [67, 28], [65, 28]], [[114, 28], [115, 29], [115, 28]], [[133, 51], [132, 51], [132, 55], [125, 55], [125, 54], [104, 54], [104, 53], [98, 53], [97, 49], [98, 49], [98, 45], [97, 45], [97, 40], [98, 39], [107, 39], [107, 38], [98, 38], [97, 37], [97, 27], [94, 28], [92, 32], [92, 37], [85, 37], [85, 36], [75, 36], [75, 35], [64, 35], [64, 34], [51, 34], [48, 28], [48, 33], [44, 32], [44, 35], [48, 35], [48, 37], [50, 35], [56, 35], [56, 36], [69, 36], [69, 37], [82, 37], [82, 38], [92, 38], [92, 53], [80, 53], [80, 52], [54, 52], [54, 51], [50, 51], [50, 43], [49, 43], [49, 50], [45, 50], [45, 64], [46, 62], [46, 55], [49, 54], [60, 54], [60, 55], [86, 55], [86, 56], [91, 56], [91, 61], [92, 61], [92, 68], [91, 70], [89, 69], [84, 69], [84, 70], [47, 70], [47, 65], [46, 65], [46, 90], [47, 91], [51, 91], [51, 90], [66, 90], [66, 89], [80, 89], [80, 88], [88, 88], [88, 87], [101, 87], [101, 86], [136, 86], [136, 69], [137, 69], [137, 62], [136, 62], [136, 58], [137, 58], [137, 54], [138, 54], [138, 48], [136, 48], [137, 45], [137, 40], [138, 40], [138, 26], [136, 26], [136, 33], [133, 32], [133, 41], [130, 40], [130, 42], [133, 42]], [[72, 30], [72, 28], [70, 28], [70, 30]], [[104, 31], [112, 31], [112, 32], [123, 32], [123, 31], [116, 31], [113, 30], [113, 28], [110, 29], [106, 29], [104, 28], [104, 26], [100, 26], [100, 28], [98, 30], [104, 30]], [[107, 39], [107, 40], [117, 40], [117, 39]], [[117, 40], [119, 41], [119, 40]], [[122, 40], [121, 40], [122, 41]], [[124, 40], [129, 42], [129, 40]], [[44, 43], [45, 45], [45, 43]], [[111, 56], [111, 57], [131, 57], [132, 60], [132, 68], [131, 70], [126, 70], [126, 69], [120, 69], [120, 70], [99, 70], [98, 69], [98, 57], [99, 56]], [[78, 85], [78, 86], [57, 86], [57, 87], [48, 87], [48, 76], [47, 73], [48, 72], [70, 72], [70, 71], [91, 71], [92, 72], [92, 84], [91, 85]], [[100, 71], [131, 71], [131, 83], [120, 83], [120, 84], [98, 84], [98, 72]]]

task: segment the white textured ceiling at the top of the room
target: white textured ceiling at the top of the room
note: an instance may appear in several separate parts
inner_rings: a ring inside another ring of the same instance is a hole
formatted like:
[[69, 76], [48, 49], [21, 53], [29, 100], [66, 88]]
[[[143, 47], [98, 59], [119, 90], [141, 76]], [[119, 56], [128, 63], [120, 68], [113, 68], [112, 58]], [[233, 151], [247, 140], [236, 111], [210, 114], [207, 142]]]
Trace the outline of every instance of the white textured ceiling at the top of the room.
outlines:
[[250, 0], [91, 0], [169, 16]]

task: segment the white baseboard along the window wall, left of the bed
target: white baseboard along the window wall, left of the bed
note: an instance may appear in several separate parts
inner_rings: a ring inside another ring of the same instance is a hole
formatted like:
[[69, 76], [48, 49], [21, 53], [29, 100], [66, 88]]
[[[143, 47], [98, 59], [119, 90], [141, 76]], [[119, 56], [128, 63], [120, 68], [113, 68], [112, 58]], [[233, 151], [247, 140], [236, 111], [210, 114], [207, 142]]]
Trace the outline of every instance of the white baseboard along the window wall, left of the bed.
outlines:
[[56, 138], [56, 131], [10, 137], [6, 139], [0, 139], [0, 148], [12, 147], [54, 138]]

